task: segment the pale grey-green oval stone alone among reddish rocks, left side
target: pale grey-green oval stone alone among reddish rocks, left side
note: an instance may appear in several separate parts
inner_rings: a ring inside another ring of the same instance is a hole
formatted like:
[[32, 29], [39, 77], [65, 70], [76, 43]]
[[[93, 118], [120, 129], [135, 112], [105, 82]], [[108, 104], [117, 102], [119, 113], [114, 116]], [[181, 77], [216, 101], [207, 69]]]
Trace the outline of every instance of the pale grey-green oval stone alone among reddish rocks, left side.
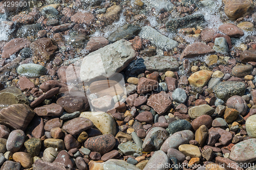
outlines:
[[46, 68], [39, 64], [22, 64], [18, 66], [17, 73], [19, 76], [36, 78], [46, 74]]

